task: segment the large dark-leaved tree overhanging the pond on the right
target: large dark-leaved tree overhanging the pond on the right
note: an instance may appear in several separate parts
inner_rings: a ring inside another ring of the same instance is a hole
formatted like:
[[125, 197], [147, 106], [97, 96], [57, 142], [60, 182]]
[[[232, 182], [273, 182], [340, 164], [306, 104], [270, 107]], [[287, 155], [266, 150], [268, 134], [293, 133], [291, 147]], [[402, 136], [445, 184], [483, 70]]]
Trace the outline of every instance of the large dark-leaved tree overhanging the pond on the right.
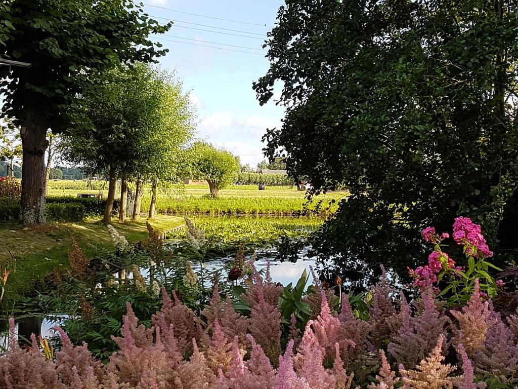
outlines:
[[483, 224], [497, 258], [516, 247], [516, 3], [285, 3], [254, 89], [264, 104], [283, 85], [269, 157], [313, 192], [350, 188], [314, 242], [335, 263], [324, 275], [403, 275], [426, 258], [420, 230], [457, 215]]

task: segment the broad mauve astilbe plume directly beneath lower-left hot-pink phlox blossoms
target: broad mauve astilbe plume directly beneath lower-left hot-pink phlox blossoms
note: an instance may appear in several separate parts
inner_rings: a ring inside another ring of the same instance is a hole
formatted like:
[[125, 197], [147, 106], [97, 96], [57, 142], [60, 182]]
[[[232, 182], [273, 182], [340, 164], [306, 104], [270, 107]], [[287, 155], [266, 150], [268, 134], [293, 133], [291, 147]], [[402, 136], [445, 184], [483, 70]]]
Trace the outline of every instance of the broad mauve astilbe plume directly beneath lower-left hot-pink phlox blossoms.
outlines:
[[[410, 307], [407, 305], [403, 324], [387, 347], [387, 351], [396, 358], [398, 364], [407, 368], [413, 368], [435, 348], [440, 336], [446, 336], [445, 326], [448, 319], [437, 310], [434, 291], [429, 288], [422, 297], [423, 312], [419, 316], [411, 317]], [[447, 343], [444, 343], [442, 352], [445, 354], [447, 349]]]

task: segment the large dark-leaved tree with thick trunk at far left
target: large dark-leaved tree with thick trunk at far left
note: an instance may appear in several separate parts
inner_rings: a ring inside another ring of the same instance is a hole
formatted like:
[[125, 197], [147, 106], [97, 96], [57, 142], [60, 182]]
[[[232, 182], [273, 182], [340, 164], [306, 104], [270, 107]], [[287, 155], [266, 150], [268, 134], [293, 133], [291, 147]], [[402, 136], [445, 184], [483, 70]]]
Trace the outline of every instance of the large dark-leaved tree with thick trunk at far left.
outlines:
[[149, 35], [167, 31], [133, 0], [7, 0], [0, 4], [0, 56], [31, 67], [0, 67], [2, 113], [21, 126], [20, 220], [45, 223], [47, 130], [67, 128], [84, 93], [121, 63], [151, 62], [167, 50]]

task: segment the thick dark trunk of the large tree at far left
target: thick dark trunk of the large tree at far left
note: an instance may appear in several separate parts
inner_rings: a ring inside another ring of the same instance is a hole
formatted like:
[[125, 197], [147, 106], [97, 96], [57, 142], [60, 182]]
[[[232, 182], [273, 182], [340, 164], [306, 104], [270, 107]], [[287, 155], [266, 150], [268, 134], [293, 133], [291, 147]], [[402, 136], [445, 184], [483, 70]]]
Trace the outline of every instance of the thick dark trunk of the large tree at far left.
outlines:
[[22, 127], [22, 198], [20, 222], [25, 225], [45, 224], [45, 150], [47, 126], [36, 115], [28, 114]]

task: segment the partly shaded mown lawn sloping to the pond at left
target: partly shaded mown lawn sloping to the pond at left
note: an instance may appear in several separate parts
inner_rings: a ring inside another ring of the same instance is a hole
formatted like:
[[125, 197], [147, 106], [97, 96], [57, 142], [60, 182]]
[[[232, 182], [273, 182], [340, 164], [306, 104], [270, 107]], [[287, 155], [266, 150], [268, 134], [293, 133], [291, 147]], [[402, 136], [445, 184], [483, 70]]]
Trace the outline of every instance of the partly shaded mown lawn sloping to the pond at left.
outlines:
[[[155, 230], [165, 232], [182, 226], [184, 220], [176, 216], [157, 215], [150, 223]], [[130, 243], [148, 238], [145, 219], [122, 224], [114, 219], [113, 227]], [[15, 222], [0, 224], [0, 266], [12, 270], [6, 285], [4, 307], [17, 295], [33, 293], [54, 268], [69, 265], [67, 251], [72, 247], [72, 238], [88, 258], [115, 249], [108, 229], [98, 220], [35, 228], [24, 228]]]

